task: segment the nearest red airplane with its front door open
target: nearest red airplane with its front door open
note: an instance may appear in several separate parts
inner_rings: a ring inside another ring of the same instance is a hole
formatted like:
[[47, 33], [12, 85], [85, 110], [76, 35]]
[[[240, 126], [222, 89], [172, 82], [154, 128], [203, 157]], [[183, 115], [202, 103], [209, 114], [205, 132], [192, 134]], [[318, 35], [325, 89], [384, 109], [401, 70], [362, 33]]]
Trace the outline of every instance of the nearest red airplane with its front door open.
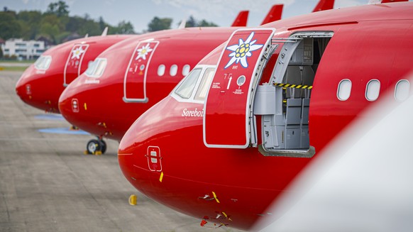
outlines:
[[375, 4], [235, 31], [129, 128], [123, 174], [201, 226], [250, 229], [365, 109], [407, 99], [412, 12]]

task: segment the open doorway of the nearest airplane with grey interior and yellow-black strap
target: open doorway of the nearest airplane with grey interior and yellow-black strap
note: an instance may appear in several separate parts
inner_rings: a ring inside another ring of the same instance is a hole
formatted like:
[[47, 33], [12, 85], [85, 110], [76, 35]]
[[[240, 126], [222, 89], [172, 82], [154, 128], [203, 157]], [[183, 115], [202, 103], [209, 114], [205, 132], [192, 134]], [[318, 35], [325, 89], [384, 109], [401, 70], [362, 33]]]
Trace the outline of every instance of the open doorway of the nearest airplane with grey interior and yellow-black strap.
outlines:
[[[254, 109], [255, 115], [262, 116], [262, 141], [258, 150], [263, 155], [311, 158], [315, 154], [315, 148], [309, 143], [309, 107], [316, 77], [312, 67], [314, 38], [332, 38], [333, 35], [333, 31], [300, 31], [288, 38], [272, 39], [283, 45], [269, 84], [258, 87], [255, 99], [258, 103]], [[324, 50], [328, 44], [326, 40], [322, 45]], [[319, 53], [317, 65], [323, 57]], [[296, 94], [295, 90], [302, 92]]]

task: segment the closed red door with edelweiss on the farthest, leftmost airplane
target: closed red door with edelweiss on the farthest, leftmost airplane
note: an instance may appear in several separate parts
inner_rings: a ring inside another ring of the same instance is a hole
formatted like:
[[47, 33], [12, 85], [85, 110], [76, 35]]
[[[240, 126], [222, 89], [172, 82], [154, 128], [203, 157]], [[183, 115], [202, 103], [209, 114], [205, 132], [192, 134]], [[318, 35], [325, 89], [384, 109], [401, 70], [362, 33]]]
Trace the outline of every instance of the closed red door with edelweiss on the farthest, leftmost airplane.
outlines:
[[79, 77], [83, 57], [87, 51], [87, 48], [89, 48], [89, 45], [86, 43], [73, 45], [73, 48], [69, 53], [69, 57], [67, 57], [65, 70], [63, 72], [64, 87], [67, 87], [67, 84], [70, 84], [74, 79]]

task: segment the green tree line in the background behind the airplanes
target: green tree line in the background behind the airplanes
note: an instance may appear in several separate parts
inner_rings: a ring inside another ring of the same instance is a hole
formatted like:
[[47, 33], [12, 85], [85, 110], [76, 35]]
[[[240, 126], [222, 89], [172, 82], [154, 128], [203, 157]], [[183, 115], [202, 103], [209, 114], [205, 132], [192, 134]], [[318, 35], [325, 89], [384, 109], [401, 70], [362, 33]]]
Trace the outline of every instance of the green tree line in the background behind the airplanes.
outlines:
[[[69, 16], [69, 6], [65, 1], [50, 3], [45, 12], [41, 11], [11, 11], [4, 7], [0, 12], [0, 38], [23, 38], [24, 40], [47, 39], [52, 44], [66, 40], [84, 37], [84, 35], [100, 35], [104, 28], [109, 28], [110, 34], [135, 34], [130, 21], [121, 21], [117, 26], [111, 26], [99, 17], [97, 21], [84, 16]], [[154, 17], [148, 23], [148, 29], [143, 31], [160, 31], [170, 29], [172, 18]], [[197, 21], [192, 16], [187, 21], [187, 27], [216, 26], [205, 20]]]

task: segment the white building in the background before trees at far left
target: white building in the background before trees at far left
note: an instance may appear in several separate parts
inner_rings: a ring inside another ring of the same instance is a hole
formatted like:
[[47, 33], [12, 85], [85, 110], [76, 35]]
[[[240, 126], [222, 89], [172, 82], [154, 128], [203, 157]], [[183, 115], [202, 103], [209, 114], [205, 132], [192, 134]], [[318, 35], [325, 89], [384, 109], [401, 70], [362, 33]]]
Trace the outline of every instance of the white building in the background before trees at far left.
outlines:
[[4, 57], [15, 55], [18, 60], [37, 59], [46, 50], [45, 41], [23, 40], [21, 38], [11, 38], [1, 45]]

